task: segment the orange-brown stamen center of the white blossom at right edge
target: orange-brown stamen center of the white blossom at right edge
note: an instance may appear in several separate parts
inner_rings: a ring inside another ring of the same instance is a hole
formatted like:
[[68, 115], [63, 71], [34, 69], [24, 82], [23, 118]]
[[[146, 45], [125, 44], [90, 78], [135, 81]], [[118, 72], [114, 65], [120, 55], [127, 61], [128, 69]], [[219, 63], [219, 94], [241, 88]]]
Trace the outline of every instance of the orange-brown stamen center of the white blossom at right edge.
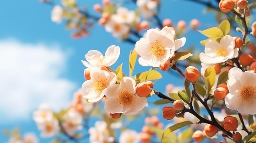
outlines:
[[256, 86], [243, 86], [242, 90], [240, 90], [240, 99], [243, 101], [251, 101], [256, 95]]

